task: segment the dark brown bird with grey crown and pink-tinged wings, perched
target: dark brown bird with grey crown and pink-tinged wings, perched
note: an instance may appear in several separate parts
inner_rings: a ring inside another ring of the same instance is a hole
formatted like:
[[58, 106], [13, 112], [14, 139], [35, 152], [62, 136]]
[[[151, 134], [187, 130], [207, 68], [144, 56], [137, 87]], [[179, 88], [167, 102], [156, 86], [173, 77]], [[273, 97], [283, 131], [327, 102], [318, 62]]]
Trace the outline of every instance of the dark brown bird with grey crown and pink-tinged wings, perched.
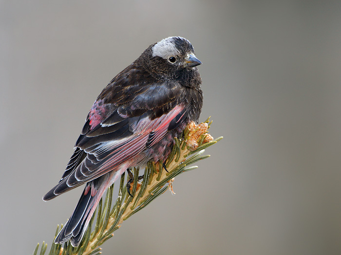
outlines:
[[198, 123], [200, 64], [189, 40], [171, 36], [149, 46], [102, 90], [59, 183], [43, 196], [48, 201], [85, 184], [55, 243], [78, 246], [105, 190], [130, 168], [165, 162], [174, 137]]

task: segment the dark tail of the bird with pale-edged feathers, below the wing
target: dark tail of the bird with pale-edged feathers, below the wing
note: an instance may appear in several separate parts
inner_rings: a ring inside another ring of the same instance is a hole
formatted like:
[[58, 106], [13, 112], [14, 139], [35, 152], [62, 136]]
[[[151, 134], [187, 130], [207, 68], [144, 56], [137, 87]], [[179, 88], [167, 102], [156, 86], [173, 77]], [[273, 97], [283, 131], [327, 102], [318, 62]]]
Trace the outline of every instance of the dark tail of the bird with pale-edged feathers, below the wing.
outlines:
[[109, 175], [110, 173], [106, 173], [86, 184], [75, 211], [58, 233], [55, 243], [63, 243], [70, 239], [72, 246], [79, 245], [99, 200], [107, 187], [109, 187]]

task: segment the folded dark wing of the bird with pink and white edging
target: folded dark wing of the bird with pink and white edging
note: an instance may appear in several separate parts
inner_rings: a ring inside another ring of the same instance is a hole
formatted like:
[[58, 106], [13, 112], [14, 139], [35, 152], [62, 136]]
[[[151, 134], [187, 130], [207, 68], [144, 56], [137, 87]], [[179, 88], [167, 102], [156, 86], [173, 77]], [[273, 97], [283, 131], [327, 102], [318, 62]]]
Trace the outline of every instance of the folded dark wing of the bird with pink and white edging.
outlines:
[[186, 119], [182, 86], [124, 78], [114, 79], [97, 98], [60, 182], [44, 200], [113, 170]]

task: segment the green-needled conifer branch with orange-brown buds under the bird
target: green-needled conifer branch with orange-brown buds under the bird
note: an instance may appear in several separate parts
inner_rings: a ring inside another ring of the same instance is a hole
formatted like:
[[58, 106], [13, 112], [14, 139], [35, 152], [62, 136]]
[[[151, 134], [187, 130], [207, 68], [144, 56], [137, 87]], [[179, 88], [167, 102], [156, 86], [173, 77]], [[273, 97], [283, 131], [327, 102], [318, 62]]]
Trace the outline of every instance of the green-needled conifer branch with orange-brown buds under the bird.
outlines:
[[[208, 128], [212, 121], [209, 118], [199, 125], [194, 122], [184, 130], [182, 136], [174, 138], [175, 144], [166, 160], [165, 167], [163, 162], [148, 162], [144, 171], [143, 181], [138, 181], [139, 168], [133, 168], [133, 183], [130, 185], [130, 192], [133, 197], [128, 194], [125, 185], [125, 173], [121, 176], [118, 197], [113, 204], [113, 188], [114, 184], [108, 188], [106, 197], [100, 200], [93, 217], [90, 220], [87, 231], [78, 247], [72, 247], [70, 241], [62, 244], [52, 244], [48, 255], [98, 255], [101, 254], [99, 246], [109, 238], [114, 236], [123, 221], [127, 220], [134, 213], [146, 207], [155, 198], [170, 189], [172, 189], [174, 177], [180, 173], [196, 169], [197, 166], [189, 166], [199, 160], [208, 158], [209, 155], [202, 155], [208, 146], [215, 144], [223, 137], [213, 140], [210, 136]], [[165, 170], [167, 169], [167, 171]], [[95, 228], [92, 231], [93, 221]], [[61, 225], [61, 228], [63, 225]], [[57, 226], [55, 238], [59, 231]], [[38, 255], [39, 243], [33, 254]], [[42, 243], [39, 255], [44, 255], [47, 250], [47, 244]]]

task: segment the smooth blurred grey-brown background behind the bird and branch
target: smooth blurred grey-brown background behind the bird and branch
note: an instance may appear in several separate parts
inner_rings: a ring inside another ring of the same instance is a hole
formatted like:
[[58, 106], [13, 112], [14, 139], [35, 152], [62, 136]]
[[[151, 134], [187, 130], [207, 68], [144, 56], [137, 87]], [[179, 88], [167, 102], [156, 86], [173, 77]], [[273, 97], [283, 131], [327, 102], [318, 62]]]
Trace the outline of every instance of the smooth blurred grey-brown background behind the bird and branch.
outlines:
[[180, 35], [203, 62], [210, 147], [103, 254], [341, 254], [341, 3], [1, 1], [0, 247], [50, 245], [61, 177], [101, 90]]

